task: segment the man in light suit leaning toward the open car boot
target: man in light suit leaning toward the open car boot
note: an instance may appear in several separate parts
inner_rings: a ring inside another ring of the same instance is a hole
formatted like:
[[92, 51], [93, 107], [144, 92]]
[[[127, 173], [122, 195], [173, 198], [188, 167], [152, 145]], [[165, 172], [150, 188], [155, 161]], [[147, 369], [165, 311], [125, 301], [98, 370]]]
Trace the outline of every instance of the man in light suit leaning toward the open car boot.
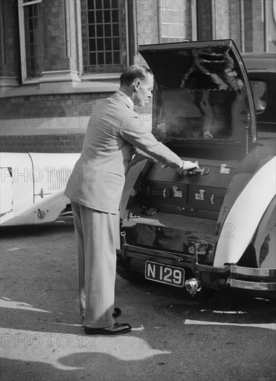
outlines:
[[89, 119], [82, 154], [68, 180], [77, 243], [80, 314], [88, 335], [120, 335], [131, 330], [118, 324], [114, 310], [116, 245], [114, 221], [119, 209], [125, 172], [133, 155], [189, 169], [140, 123], [134, 105], [151, 98], [154, 79], [147, 67], [132, 65], [120, 76], [120, 89], [102, 100]]

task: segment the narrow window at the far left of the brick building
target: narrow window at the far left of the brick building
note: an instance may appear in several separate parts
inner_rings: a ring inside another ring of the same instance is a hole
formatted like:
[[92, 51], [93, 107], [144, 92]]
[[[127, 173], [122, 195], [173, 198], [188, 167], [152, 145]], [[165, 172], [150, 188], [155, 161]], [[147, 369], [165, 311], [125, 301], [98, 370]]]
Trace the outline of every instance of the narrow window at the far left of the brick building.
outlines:
[[22, 81], [42, 75], [44, 19], [42, 0], [19, 0], [19, 35]]

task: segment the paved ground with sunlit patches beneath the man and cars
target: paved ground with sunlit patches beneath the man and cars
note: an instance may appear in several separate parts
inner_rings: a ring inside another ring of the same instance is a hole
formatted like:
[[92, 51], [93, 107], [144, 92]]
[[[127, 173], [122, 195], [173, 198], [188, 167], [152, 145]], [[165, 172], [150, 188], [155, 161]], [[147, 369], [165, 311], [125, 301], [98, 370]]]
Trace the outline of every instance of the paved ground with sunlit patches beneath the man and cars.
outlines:
[[1, 230], [1, 380], [275, 380], [275, 303], [234, 292], [192, 299], [118, 277], [118, 337], [86, 336], [73, 224]]

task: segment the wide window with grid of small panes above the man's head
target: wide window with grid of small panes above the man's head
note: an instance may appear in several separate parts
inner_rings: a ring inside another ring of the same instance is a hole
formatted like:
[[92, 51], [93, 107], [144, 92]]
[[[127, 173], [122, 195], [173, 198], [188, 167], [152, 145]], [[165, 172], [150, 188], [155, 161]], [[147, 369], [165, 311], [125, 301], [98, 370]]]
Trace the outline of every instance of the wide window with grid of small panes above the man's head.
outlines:
[[82, 0], [83, 72], [118, 73], [127, 67], [127, 1]]

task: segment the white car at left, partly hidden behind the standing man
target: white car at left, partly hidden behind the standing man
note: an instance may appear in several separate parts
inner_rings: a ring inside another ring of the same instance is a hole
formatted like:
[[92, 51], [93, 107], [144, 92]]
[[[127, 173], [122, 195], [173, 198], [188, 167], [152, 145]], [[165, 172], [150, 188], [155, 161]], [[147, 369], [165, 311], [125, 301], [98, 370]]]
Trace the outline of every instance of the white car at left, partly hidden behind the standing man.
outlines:
[[70, 211], [64, 188], [80, 154], [0, 153], [0, 226], [42, 224]]

